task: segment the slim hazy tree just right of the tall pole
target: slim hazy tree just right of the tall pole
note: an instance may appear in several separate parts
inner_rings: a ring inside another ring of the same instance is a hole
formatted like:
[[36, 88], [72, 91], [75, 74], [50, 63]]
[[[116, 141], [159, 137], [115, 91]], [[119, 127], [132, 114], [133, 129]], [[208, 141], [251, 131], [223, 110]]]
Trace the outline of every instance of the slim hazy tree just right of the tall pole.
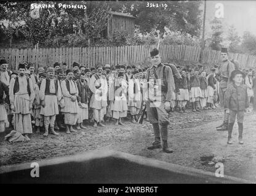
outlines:
[[218, 18], [214, 18], [214, 20], [210, 21], [210, 24], [212, 25], [212, 38], [210, 42], [210, 48], [212, 50], [220, 50], [222, 46], [220, 43], [222, 42], [222, 21]]

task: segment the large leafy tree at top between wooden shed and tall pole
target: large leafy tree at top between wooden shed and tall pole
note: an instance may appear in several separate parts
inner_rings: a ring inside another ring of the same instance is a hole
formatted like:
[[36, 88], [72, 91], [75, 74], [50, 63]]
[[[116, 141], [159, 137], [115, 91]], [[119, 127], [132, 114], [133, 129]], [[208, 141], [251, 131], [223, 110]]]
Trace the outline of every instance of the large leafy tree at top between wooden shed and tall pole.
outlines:
[[[150, 1], [154, 7], [146, 7], [148, 1], [111, 1], [113, 11], [130, 13], [143, 34], [156, 29], [164, 32], [166, 26], [171, 31], [199, 36], [201, 31], [201, 1]], [[158, 4], [158, 7], [156, 7]], [[166, 4], [166, 9], [162, 5]]]

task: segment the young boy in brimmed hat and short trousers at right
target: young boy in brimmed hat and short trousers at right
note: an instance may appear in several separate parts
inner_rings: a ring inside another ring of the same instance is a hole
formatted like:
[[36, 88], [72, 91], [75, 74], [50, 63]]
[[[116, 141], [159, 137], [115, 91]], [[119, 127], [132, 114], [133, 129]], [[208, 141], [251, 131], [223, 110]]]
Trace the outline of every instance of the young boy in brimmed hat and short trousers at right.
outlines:
[[[231, 134], [234, 126], [234, 121], [238, 120], [238, 141], [242, 141], [242, 122], [244, 121], [244, 110], [249, 107], [249, 100], [247, 99], [247, 86], [242, 84], [243, 78], [246, 75], [240, 70], [233, 70], [231, 72], [231, 80], [233, 83], [228, 85], [224, 97], [224, 108], [226, 113], [230, 114], [228, 124], [228, 145], [232, 144]], [[237, 117], [236, 117], [237, 116]]]

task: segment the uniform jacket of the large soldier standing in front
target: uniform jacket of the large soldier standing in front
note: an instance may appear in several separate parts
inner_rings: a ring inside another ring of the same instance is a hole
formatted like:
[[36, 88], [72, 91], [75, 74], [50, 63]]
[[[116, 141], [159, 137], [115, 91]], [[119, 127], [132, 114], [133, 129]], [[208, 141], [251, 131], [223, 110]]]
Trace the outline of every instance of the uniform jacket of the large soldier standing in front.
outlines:
[[143, 83], [145, 100], [170, 102], [174, 98], [175, 83], [172, 69], [169, 66], [165, 67], [165, 73], [163, 73], [164, 65], [162, 63], [146, 70], [146, 82]]

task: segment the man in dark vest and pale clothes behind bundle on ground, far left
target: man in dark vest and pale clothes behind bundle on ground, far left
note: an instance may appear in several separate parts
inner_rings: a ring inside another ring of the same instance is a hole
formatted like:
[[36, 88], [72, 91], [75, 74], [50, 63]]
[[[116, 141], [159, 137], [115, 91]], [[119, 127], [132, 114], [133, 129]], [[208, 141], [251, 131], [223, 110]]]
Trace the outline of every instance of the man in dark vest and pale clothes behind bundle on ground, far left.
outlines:
[[32, 134], [31, 110], [34, 101], [34, 89], [31, 78], [25, 77], [25, 64], [18, 65], [18, 77], [10, 80], [10, 108], [14, 113], [14, 129], [24, 134]]

